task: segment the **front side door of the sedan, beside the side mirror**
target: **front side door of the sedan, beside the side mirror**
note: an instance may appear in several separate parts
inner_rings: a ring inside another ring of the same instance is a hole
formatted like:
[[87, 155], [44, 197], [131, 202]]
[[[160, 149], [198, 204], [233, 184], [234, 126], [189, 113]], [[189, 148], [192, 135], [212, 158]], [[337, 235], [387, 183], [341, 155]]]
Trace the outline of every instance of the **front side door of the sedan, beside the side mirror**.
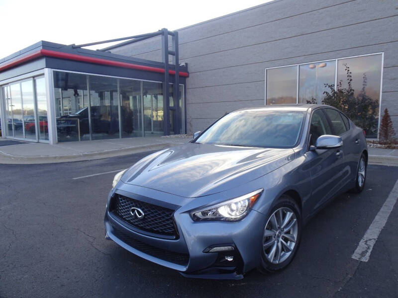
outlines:
[[323, 108], [319, 108], [312, 112], [309, 127], [307, 156], [311, 159], [311, 213], [316, 212], [338, 193], [342, 186], [343, 149], [310, 149], [310, 146], [314, 146], [316, 139], [320, 136], [333, 135], [330, 121], [323, 110]]

